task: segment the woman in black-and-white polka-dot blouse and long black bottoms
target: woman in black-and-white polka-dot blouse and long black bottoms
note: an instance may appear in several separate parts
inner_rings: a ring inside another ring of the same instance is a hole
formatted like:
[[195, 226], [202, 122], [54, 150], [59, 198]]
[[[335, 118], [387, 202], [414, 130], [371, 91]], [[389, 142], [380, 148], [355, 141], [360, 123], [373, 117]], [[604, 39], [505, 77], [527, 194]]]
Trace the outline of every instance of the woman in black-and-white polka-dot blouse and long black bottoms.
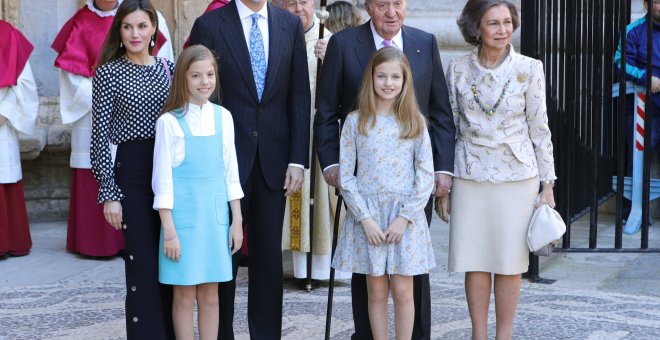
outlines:
[[128, 339], [174, 339], [172, 289], [158, 282], [160, 219], [151, 190], [155, 124], [174, 65], [151, 55], [157, 29], [149, 0], [123, 1], [92, 81], [92, 171], [105, 219], [124, 231]]

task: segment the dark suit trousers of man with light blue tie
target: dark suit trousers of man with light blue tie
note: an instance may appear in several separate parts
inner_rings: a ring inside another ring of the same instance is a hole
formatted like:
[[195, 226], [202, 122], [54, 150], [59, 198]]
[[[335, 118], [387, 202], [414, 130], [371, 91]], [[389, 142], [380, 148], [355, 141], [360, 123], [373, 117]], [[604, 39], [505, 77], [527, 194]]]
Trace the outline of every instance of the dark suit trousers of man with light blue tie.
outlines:
[[[284, 184], [284, 182], [282, 182]], [[243, 220], [248, 242], [248, 325], [251, 339], [282, 336], [282, 222], [284, 190], [271, 190], [264, 179], [257, 153], [252, 173], [243, 186]], [[237, 253], [240, 254], [240, 251]], [[239, 256], [233, 257], [234, 279], [220, 283], [218, 339], [234, 339], [234, 299]]]

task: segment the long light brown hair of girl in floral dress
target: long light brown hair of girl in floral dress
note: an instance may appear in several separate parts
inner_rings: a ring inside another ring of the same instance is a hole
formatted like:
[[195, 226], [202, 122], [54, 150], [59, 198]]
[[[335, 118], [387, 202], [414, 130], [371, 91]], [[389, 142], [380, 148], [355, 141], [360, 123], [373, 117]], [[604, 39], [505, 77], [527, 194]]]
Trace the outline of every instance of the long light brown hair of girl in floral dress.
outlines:
[[426, 128], [426, 121], [417, 105], [415, 89], [412, 83], [412, 72], [406, 55], [396, 47], [384, 47], [378, 50], [369, 60], [364, 71], [362, 85], [358, 95], [360, 117], [358, 119], [358, 131], [361, 135], [368, 135], [376, 125], [376, 101], [378, 97], [374, 90], [374, 71], [378, 65], [396, 61], [401, 65], [403, 71], [403, 85], [401, 92], [394, 99], [394, 116], [399, 123], [399, 138], [414, 139]]

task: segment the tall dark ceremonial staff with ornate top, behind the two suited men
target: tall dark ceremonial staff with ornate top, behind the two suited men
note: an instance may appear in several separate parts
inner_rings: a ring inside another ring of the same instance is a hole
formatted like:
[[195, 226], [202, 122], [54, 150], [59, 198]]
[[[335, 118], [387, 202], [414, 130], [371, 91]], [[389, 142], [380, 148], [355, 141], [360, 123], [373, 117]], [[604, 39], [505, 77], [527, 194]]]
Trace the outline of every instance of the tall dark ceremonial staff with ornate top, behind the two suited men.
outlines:
[[[328, 1], [321, 0], [321, 9], [316, 12], [316, 17], [319, 18], [319, 40], [324, 37], [324, 23], [328, 18], [329, 13], [325, 10], [325, 5]], [[323, 67], [323, 60], [321, 58], [316, 60], [316, 91], [314, 93], [314, 106], [318, 108], [317, 100], [319, 99], [319, 80], [321, 78], [321, 68]], [[308, 292], [312, 290], [312, 249], [314, 248], [314, 191], [316, 189], [316, 138], [312, 129], [312, 161], [310, 163], [309, 172], [309, 252], [307, 253], [307, 283], [305, 288]]]

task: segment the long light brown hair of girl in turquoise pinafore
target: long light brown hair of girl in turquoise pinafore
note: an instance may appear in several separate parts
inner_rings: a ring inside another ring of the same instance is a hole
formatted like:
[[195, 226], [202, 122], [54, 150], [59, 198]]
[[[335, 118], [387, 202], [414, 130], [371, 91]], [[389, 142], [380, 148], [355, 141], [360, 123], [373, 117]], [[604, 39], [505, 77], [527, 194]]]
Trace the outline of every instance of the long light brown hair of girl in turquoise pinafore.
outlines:
[[174, 81], [172, 82], [172, 87], [170, 87], [170, 94], [167, 96], [167, 100], [165, 100], [161, 114], [179, 110], [182, 110], [182, 114], [185, 114], [189, 101], [188, 78], [186, 74], [190, 65], [201, 60], [211, 60], [211, 64], [215, 70], [215, 90], [213, 90], [211, 98], [219, 98], [220, 81], [218, 79], [218, 64], [215, 61], [213, 52], [202, 45], [189, 46], [181, 52], [179, 59], [176, 61]]

